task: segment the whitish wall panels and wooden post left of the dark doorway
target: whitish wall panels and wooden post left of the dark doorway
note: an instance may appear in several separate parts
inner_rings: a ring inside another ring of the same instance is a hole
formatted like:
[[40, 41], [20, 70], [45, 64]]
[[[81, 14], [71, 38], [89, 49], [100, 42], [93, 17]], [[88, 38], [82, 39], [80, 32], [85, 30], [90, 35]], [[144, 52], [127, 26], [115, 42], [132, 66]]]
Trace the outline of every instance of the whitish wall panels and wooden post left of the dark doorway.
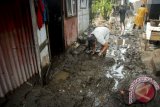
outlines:
[[41, 77], [42, 67], [44, 67], [45, 65], [50, 63], [49, 49], [48, 49], [49, 47], [45, 46], [45, 48], [40, 52], [40, 45], [47, 39], [46, 27], [45, 27], [45, 24], [43, 24], [42, 28], [38, 29], [35, 7], [34, 7], [34, 1], [29, 0], [29, 2], [30, 2], [30, 9], [31, 9], [34, 43], [35, 43], [35, 46], [36, 46], [35, 47], [36, 57], [37, 57], [36, 60], [37, 60], [37, 63], [38, 63], [39, 75]]

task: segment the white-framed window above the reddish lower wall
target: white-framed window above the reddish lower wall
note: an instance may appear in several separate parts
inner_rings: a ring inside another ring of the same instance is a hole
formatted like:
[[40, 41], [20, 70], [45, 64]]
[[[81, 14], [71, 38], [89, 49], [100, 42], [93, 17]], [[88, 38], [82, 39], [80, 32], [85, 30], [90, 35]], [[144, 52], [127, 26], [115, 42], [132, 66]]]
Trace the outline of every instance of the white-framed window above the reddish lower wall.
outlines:
[[77, 15], [76, 0], [66, 0], [66, 15], [72, 17]]

